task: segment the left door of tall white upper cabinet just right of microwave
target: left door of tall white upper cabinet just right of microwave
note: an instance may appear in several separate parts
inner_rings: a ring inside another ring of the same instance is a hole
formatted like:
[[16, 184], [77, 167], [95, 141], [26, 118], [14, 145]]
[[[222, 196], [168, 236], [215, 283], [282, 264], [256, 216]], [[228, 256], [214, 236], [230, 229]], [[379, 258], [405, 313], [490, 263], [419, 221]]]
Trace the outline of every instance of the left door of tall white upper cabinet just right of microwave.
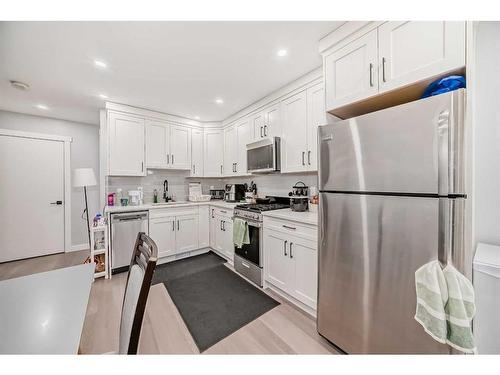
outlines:
[[307, 170], [307, 95], [301, 91], [281, 102], [281, 171]]

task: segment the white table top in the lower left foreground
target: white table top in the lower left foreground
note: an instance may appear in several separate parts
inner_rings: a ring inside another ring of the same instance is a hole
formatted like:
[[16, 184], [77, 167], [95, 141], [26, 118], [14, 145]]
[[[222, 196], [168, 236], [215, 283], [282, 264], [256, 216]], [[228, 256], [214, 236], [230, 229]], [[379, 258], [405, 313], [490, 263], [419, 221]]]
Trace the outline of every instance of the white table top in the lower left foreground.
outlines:
[[76, 354], [94, 264], [0, 282], [0, 354]]

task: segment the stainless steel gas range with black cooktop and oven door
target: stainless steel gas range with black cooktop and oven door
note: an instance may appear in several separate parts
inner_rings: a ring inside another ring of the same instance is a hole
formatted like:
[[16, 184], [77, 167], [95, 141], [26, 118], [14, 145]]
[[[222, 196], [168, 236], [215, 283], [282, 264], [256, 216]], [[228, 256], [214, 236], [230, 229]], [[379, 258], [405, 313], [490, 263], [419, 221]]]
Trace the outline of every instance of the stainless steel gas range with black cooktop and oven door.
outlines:
[[269, 203], [240, 204], [234, 208], [234, 218], [245, 220], [248, 224], [249, 244], [234, 247], [234, 269], [262, 286], [262, 212], [290, 207], [289, 198], [272, 197]]

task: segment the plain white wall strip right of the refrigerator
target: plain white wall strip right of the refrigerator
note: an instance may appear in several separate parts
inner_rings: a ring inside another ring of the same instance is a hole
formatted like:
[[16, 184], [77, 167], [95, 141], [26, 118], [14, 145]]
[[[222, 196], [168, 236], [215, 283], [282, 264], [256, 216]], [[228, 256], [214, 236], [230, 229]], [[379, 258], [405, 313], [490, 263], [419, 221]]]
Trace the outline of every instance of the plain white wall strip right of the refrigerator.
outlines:
[[500, 22], [479, 22], [474, 116], [474, 236], [500, 245]]

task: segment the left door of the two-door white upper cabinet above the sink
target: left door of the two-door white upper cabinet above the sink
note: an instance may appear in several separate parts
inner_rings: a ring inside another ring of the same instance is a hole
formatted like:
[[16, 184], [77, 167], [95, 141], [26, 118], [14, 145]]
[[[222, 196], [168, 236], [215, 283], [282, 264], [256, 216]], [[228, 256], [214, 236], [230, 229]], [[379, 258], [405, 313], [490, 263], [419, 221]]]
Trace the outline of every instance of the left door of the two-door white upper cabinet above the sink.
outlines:
[[168, 123], [146, 121], [146, 167], [168, 168], [170, 161], [170, 127]]

